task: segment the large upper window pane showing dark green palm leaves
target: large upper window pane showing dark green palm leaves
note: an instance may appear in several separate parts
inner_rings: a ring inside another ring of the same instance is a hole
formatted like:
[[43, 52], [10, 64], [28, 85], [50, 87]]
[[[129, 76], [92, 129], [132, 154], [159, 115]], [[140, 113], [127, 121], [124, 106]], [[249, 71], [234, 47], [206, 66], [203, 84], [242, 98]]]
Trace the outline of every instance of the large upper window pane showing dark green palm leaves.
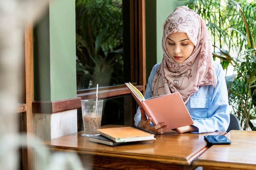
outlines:
[[122, 0], [76, 0], [77, 90], [124, 84]]

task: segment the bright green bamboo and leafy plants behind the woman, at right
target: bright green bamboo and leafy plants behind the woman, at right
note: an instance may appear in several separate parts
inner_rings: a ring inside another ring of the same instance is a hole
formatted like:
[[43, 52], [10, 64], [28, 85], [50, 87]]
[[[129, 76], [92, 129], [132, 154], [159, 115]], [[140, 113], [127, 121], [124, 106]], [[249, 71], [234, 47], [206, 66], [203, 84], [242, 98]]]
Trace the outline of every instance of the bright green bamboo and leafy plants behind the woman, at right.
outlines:
[[[207, 23], [224, 69], [232, 65], [236, 77], [229, 84], [229, 104], [243, 130], [256, 130], [256, 4], [254, 0], [186, 0]], [[237, 55], [231, 57], [230, 53]]]

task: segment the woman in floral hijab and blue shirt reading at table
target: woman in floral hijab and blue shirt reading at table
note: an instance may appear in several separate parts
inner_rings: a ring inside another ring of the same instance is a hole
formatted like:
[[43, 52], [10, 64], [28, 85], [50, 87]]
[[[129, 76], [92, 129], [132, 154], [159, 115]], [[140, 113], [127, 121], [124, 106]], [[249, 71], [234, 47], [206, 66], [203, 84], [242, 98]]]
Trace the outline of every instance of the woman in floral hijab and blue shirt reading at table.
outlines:
[[[164, 22], [162, 49], [162, 62], [153, 66], [148, 77], [145, 99], [179, 92], [194, 121], [174, 129], [179, 133], [226, 131], [230, 121], [227, 86], [222, 66], [213, 61], [202, 18], [188, 7], [177, 7]], [[151, 124], [142, 108], [134, 120], [135, 126], [157, 134], [168, 128], [165, 122]]]

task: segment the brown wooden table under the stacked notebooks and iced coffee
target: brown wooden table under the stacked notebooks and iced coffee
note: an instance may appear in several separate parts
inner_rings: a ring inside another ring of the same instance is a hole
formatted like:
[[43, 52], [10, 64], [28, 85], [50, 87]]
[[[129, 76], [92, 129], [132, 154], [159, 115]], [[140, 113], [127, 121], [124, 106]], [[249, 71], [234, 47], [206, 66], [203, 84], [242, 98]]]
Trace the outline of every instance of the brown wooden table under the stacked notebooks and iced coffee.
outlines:
[[190, 170], [195, 168], [193, 161], [208, 149], [204, 135], [222, 133], [178, 134], [169, 131], [157, 135], [156, 140], [107, 146], [90, 142], [88, 137], [82, 136], [81, 131], [44, 144], [52, 151], [77, 152], [83, 167], [88, 169]]

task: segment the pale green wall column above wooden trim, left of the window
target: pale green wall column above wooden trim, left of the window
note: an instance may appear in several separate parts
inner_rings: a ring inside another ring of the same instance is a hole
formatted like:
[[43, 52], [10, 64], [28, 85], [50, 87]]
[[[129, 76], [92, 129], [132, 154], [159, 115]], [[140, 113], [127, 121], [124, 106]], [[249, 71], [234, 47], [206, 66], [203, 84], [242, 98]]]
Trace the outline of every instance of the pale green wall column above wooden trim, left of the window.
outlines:
[[75, 0], [54, 0], [34, 32], [35, 100], [76, 97]]

